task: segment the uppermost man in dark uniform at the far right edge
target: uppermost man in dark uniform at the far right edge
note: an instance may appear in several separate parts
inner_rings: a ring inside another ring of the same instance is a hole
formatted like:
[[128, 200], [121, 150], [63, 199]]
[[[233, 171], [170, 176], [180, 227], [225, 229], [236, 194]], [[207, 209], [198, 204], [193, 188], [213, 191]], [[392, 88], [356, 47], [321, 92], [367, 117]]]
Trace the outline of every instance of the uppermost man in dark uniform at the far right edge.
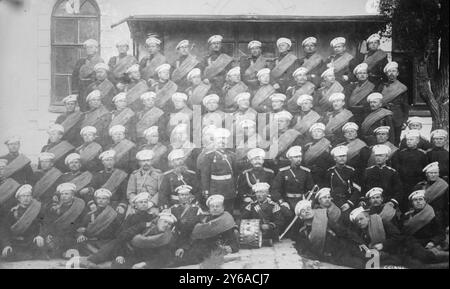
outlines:
[[[431, 132], [433, 148], [427, 151], [428, 162], [438, 162], [442, 177], [448, 179], [448, 133], [443, 129]], [[445, 148], [447, 146], [447, 149]]]

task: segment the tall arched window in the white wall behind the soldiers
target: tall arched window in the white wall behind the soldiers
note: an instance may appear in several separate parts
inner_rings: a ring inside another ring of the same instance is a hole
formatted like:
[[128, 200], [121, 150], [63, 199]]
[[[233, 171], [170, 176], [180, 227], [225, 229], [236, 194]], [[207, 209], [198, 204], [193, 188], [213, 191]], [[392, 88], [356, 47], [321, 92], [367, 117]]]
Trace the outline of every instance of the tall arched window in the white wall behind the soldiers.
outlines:
[[59, 0], [52, 13], [51, 105], [61, 105], [70, 94], [71, 75], [84, 57], [83, 42], [100, 41], [100, 10], [94, 0]]

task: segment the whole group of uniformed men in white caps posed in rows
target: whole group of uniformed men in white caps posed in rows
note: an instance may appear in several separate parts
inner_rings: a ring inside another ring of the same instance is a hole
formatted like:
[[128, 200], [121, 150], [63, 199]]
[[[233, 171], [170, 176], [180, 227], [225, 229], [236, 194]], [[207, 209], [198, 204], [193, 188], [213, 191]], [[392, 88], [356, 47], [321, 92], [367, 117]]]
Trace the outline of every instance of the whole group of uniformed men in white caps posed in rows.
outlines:
[[302, 58], [287, 38], [275, 59], [251, 41], [238, 64], [222, 36], [208, 44], [200, 60], [181, 41], [170, 65], [150, 35], [139, 63], [120, 42], [105, 64], [85, 42], [37, 168], [18, 137], [5, 142], [2, 259], [77, 249], [87, 267], [199, 263], [237, 252], [237, 224], [254, 219], [264, 245], [287, 236], [332, 263], [363, 268], [371, 251], [385, 265], [448, 262], [448, 134], [430, 142], [408, 119], [378, 35], [362, 57], [337, 37], [327, 59], [314, 37]]

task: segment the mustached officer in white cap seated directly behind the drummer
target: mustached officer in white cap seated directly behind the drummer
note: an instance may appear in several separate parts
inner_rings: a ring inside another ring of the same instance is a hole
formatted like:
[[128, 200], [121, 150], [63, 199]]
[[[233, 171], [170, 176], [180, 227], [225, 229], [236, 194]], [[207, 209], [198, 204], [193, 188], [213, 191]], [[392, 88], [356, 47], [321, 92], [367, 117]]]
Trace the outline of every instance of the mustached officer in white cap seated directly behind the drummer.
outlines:
[[238, 207], [243, 208], [255, 201], [253, 185], [256, 183], [271, 184], [275, 172], [264, 167], [266, 153], [261, 148], [253, 148], [247, 152], [251, 168], [244, 170], [237, 179]]

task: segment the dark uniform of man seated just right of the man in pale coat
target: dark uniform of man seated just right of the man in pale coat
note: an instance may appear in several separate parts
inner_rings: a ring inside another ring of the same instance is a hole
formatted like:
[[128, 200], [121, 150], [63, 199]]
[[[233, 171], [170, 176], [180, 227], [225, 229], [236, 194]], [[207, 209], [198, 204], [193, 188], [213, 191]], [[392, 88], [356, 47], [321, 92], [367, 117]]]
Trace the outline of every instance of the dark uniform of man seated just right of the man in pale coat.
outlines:
[[181, 185], [189, 185], [192, 187], [191, 193], [200, 199], [200, 184], [197, 174], [191, 170], [184, 170], [179, 175], [170, 170], [164, 173], [161, 181], [159, 192], [159, 206], [169, 208], [178, 204], [178, 194], [175, 189]]

